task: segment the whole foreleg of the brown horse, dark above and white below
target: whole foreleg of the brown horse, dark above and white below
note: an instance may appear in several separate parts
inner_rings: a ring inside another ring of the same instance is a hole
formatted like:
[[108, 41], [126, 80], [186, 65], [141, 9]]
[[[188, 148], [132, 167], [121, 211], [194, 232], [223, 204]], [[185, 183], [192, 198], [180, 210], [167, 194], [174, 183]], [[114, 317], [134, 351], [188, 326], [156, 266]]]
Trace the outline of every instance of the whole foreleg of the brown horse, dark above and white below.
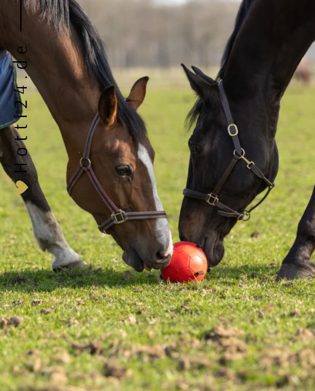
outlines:
[[[34, 237], [43, 251], [49, 251], [54, 256], [52, 269], [73, 269], [86, 267], [80, 260], [79, 255], [66, 242], [61, 227], [43, 194], [38, 183], [38, 176], [29, 153], [25, 156], [17, 154], [18, 148], [24, 148], [23, 141], [18, 143], [18, 132], [14, 126], [9, 126], [0, 130], [0, 162], [7, 175], [16, 183], [23, 181], [29, 187], [22, 198], [32, 222]], [[18, 145], [18, 146], [17, 146]], [[15, 165], [18, 163], [19, 165]], [[20, 164], [27, 166], [20, 166]], [[21, 167], [21, 168], [20, 168]], [[25, 170], [27, 173], [15, 172]]]

